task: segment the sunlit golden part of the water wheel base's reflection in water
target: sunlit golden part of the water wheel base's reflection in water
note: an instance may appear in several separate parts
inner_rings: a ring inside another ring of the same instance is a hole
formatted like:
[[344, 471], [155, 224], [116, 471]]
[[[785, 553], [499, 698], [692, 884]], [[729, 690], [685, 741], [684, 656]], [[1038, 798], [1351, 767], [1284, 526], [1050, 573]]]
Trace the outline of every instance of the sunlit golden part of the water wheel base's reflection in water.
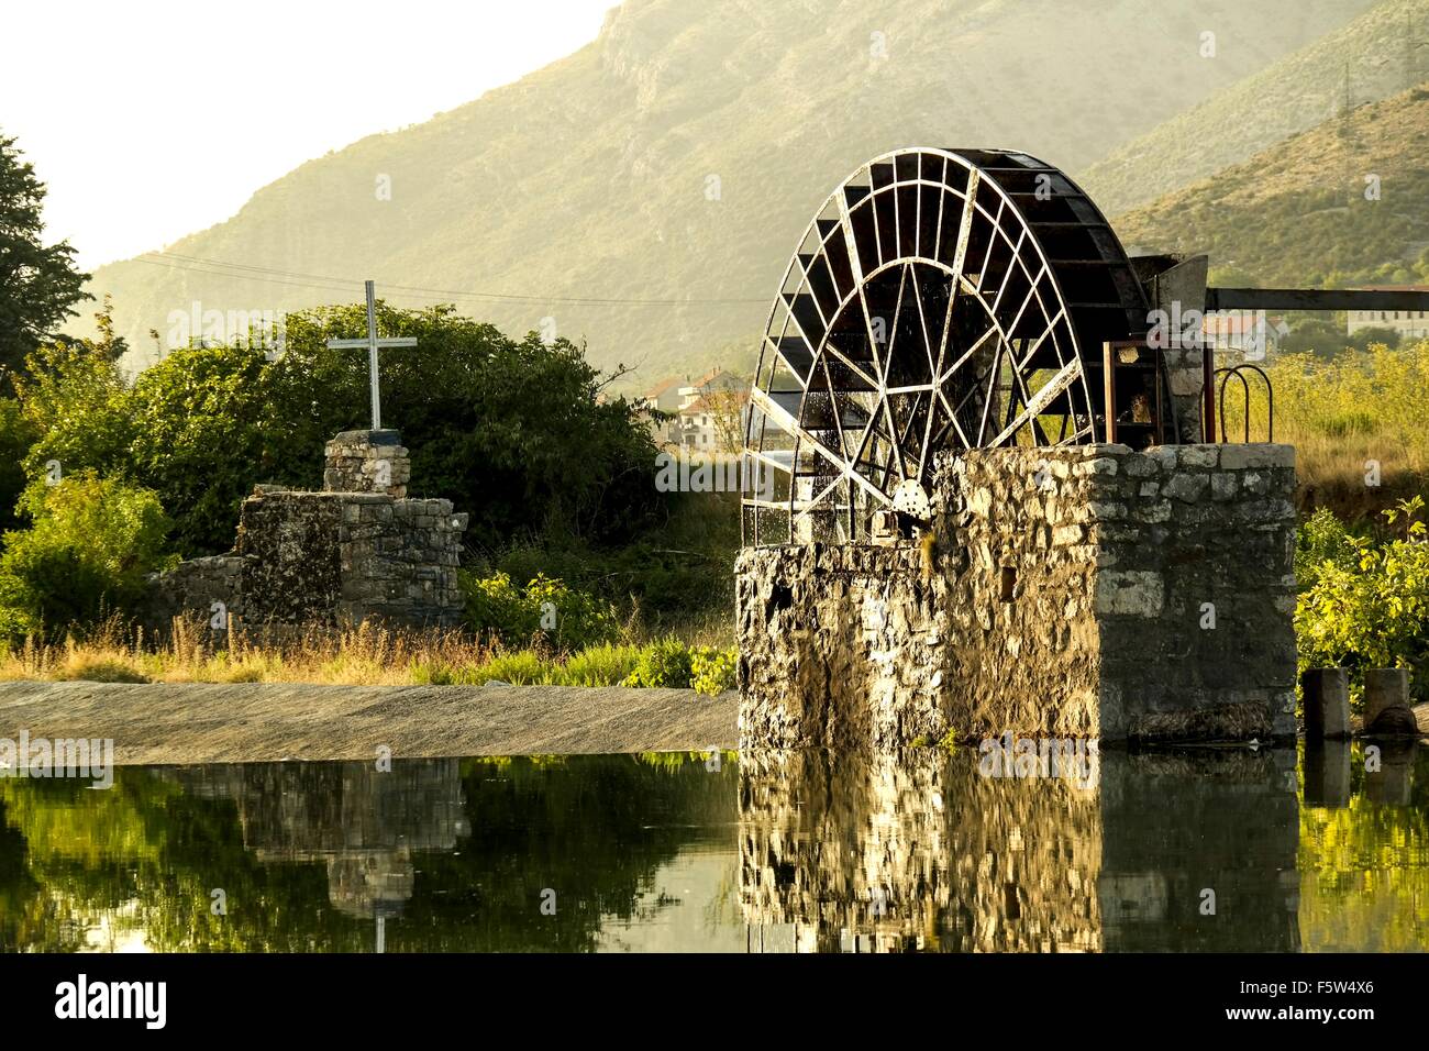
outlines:
[[809, 948], [1100, 947], [1095, 789], [982, 778], [960, 759], [747, 756], [740, 875], [750, 925]]

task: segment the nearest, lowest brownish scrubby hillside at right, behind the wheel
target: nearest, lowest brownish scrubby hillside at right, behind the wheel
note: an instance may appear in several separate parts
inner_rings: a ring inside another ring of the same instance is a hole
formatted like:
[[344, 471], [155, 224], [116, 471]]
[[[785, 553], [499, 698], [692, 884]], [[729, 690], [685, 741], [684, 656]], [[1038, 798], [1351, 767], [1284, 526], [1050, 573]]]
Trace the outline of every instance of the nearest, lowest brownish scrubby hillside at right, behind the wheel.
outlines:
[[[1378, 193], [1378, 200], [1373, 199]], [[1429, 246], [1429, 82], [1112, 220], [1129, 249], [1208, 252], [1263, 286], [1409, 263]]]

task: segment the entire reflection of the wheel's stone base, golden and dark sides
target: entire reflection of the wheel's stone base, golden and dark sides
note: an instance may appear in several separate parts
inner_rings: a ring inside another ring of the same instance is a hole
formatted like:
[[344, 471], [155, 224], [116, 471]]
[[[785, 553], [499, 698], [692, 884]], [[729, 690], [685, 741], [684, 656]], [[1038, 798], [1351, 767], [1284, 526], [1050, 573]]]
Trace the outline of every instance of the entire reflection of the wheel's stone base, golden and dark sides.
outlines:
[[1109, 754], [1097, 774], [985, 776], [970, 752], [927, 749], [746, 756], [745, 918], [826, 951], [1295, 947], [1279, 871], [1296, 802], [1270, 756]]

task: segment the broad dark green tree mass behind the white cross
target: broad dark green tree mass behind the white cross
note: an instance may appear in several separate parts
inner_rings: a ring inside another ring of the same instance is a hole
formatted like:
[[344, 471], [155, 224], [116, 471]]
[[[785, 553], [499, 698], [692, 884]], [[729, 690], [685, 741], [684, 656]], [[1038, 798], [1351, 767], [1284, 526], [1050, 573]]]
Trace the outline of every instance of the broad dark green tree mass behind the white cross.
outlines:
[[[410, 492], [469, 510], [469, 543], [620, 543], [654, 520], [649, 430], [636, 406], [604, 398], [580, 347], [514, 340], [450, 306], [379, 313], [384, 332], [419, 339], [382, 357], [384, 422], [412, 450]], [[16, 393], [33, 433], [26, 470], [34, 479], [57, 460], [66, 475], [93, 469], [154, 490], [184, 556], [231, 546], [256, 483], [320, 488], [323, 445], [369, 425], [366, 353], [327, 346], [366, 330], [362, 306], [290, 315], [273, 360], [242, 343], [189, 346], [131, 388], [106, 310], [99, 320], [99, 339], [43, 343], [29, 357]]]

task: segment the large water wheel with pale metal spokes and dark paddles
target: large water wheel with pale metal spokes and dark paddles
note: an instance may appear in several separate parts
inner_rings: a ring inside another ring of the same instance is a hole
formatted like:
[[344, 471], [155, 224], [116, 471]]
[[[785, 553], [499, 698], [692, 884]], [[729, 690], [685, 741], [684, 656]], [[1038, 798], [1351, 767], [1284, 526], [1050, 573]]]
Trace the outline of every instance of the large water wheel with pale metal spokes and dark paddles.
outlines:
[[1102, 342], [1146, 332], [1106, 219], [1025, 153], [906, 149], [825, 202], [760, 346], [746, 543], [865, 539], [936, 449], [1095, 440]]

